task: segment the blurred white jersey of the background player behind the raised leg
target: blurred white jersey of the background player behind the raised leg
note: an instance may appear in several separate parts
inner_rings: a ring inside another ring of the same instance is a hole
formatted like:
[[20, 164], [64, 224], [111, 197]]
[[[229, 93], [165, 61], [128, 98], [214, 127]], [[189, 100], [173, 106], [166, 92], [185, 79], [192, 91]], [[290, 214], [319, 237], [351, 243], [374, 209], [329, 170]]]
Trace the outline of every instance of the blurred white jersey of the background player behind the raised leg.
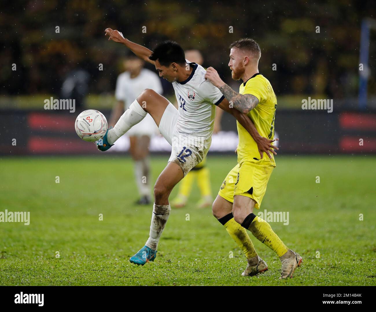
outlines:
[[127, 110], [145, 89], [153, 89], [159, 94], [163, 93], [161, 80], [155, 72], [143, 68], [135, 78], [130, 78], [129, 72], [123, 72], [116, 81], [115, 98], [118, 101], [124, 101], [124, 110]]

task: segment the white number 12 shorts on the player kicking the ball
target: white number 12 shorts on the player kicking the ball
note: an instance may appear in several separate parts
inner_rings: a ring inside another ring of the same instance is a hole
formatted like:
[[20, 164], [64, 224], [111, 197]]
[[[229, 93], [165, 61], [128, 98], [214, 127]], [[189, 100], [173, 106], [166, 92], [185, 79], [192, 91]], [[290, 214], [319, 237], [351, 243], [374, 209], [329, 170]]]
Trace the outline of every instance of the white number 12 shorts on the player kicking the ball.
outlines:
[[208, 153], [211, 138], [205, 138], [203, 142], [202, 138], [197, 136], [179, 133], [176, 129], [178, 117], [179, 111], [169, 103], [159, 123], [159, 132], [172, 146], [168, 161], [179, 165], [185, 176], [194, 166], [202, 162]]

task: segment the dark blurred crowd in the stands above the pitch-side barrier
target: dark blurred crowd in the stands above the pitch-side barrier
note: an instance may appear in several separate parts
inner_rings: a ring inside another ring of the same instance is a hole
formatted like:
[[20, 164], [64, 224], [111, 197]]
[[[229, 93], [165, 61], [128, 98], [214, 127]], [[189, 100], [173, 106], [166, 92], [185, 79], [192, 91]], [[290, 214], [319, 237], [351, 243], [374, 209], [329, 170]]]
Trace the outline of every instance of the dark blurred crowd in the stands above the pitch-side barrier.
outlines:
[[[357, 95], [360, 24], [375, 17], [376, 6], [373, 1], [34, 0], [2, 3], [1, 11], [3, 94], [59, 93], [64, 76], [77, 67], [90, 73], [90, 92], [112, 91], [115, 64], [126, 49], [106, 42], [104, 30], [111, 27], [149, 48], [172, 39], [184, 49], [200, 49], [204, 65], [227, 79], [229, 44], [252, 37], [262, 49], [260, 72], [273, 81], [278, 95], [346, 99]], [[18, 75], [12, 63], [19, 66]], [[369, 89], [373, 94], [374, 75]]]

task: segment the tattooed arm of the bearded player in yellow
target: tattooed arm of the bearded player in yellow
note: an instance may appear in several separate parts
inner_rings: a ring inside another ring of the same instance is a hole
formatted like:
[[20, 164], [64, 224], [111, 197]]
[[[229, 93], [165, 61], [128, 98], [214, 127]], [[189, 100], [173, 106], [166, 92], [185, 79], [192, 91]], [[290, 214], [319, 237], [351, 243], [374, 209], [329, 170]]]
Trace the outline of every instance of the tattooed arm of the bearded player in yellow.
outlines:
[[232, 104], [233, 108], [244, 114], [248, 114], [259, 103], [258, 98], [252, 94], [240, 94], [232, 90], [219, 77], [217, 71], [209, 67], [206, 69], [205, 79], [208, 79], [215, 87], [217, 87], [224, 97]]

